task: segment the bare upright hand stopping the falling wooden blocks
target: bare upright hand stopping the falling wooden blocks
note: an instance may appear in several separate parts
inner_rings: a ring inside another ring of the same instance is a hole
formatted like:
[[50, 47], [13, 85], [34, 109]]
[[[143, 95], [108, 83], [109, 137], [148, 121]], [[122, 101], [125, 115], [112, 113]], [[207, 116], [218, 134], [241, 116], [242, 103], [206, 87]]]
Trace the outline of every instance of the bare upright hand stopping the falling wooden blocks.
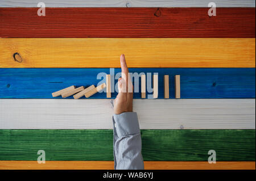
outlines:
[[[122, 77], [118, 79], [118, 95], [114, 100], [114, 113], [133, 112], [133, 84], [125, 61], [125, 55], [120, 56]], [[128, 82], [128, 83], [127, 83]]]

